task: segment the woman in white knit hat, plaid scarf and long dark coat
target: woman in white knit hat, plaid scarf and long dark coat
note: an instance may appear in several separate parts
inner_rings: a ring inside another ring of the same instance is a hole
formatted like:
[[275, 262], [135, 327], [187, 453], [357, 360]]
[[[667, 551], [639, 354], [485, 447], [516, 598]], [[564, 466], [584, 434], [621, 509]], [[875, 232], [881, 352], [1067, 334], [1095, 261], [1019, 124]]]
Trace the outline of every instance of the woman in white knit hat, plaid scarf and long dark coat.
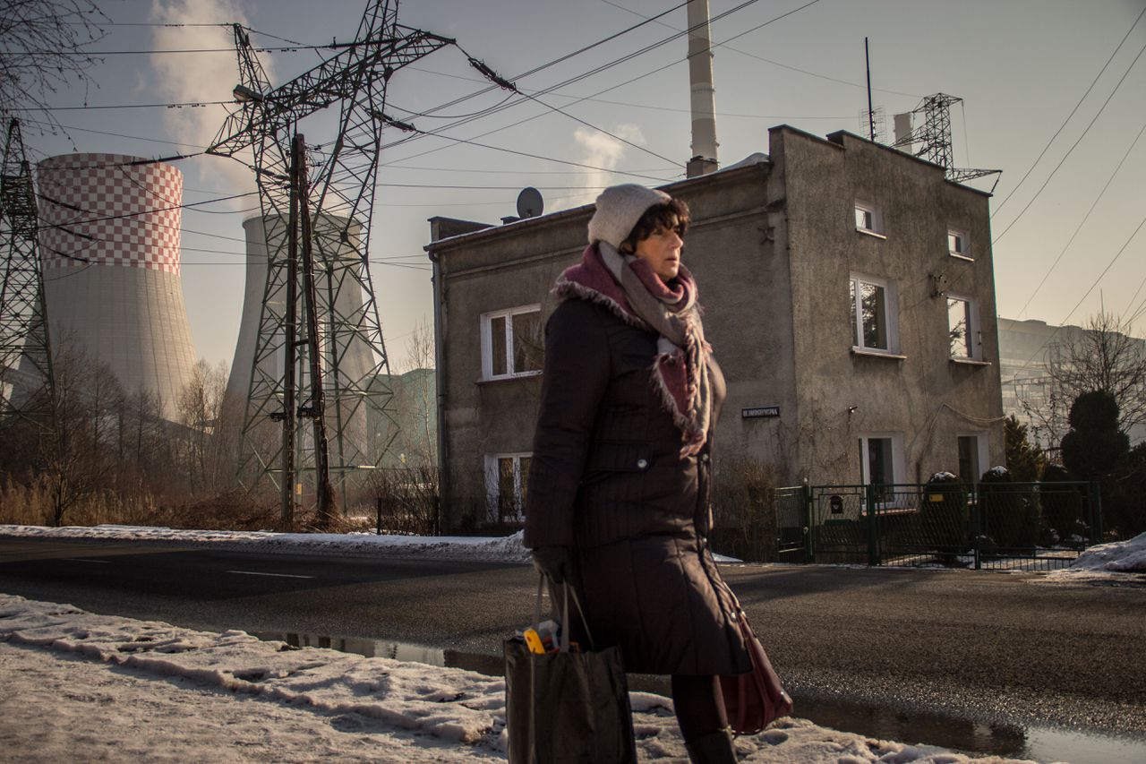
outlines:
[[[681, 263], [688, 206], [636, 185], [597, 197], [589, 247], [545, 327], [525, 543], [571, 585], [595, 648], [672, 676], [692, 762], [736, 762], [717, 677], [752, 670], [705, 549], [724, 379]], [[573, 639], [586, 644], [576, 618]]]

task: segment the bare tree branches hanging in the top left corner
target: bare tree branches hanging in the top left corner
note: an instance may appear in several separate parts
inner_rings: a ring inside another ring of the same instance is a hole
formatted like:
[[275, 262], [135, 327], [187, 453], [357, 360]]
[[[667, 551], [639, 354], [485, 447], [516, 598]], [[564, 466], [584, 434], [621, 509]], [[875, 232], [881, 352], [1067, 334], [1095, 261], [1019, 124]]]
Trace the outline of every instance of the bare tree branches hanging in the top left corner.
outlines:
[[87, 48], [103, 39], [104, 21], [93, 0], [0, 0], [3, 120], [22, 106], [46, 107], [61, 87], [89, 84], [88, 72], [100, 59]]

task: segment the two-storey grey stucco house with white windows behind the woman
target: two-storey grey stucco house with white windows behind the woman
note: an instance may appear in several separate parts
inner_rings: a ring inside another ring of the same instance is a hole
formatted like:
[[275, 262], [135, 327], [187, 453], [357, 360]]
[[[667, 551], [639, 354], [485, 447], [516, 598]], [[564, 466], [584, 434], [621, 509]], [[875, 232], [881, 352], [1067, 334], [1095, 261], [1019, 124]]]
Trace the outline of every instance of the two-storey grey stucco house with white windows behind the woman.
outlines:
[[[1003, 461], [989, 195], [847, 132], [674, 182], [683, 258], [728, 382], [714, 462], [784, 484], [968, 480]], [[592, 205], [503, 226], [431, 219], [445, 528], [515, 520], [540, 329]], [[465, 515], [470, 515], [466, 517]]]

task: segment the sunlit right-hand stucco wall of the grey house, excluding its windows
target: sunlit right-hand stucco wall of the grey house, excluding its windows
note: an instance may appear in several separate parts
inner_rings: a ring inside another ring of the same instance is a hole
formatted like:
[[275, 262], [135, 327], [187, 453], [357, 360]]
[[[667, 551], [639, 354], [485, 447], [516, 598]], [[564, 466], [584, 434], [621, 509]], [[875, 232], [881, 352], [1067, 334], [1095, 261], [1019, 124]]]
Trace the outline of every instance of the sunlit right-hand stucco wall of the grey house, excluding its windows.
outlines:
[[[787, 192], [800, 411], [794, 431], [785, 435], [799, 443], [801, 477], [859, 482], [862, 435], [902, 437], [896, 480], [903, 482], [958, 471], [958, 435], [986, 436], [981, 469], [1000, 463], [988, 197], [945, 181], [934, 165], [847, 133], [832, 138], [771, 132]], [[882, 237], [856, 231], [857, 200], [880, 210]], [[949, 226], [967, 232], [973, 260], [949, 254]], [[853, 350], [854, 273], [894, 284], [893, 356], [902, 358]], [[975, 301], [979, 326], [972, 332], [982, 362], [951, 360], [947, 297], [940, 293]]]

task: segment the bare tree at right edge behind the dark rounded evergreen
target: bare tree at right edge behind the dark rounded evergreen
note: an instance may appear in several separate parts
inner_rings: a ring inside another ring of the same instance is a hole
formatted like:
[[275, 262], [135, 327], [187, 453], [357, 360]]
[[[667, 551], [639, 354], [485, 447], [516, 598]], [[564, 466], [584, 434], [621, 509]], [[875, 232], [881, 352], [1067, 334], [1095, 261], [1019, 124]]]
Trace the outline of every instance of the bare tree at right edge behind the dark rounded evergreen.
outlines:
[[1084, 392], [1101, 390], [1118, 404], [1118, 427], [1146, 423], [1146, 341], [1130, 336], [1130, 323], [1100, 312], [1082, 329], [1066, 327], [1047, 352], [1049, 376], [1039, 399], [1025, 400], [1039, 435], [1058, 443], [1069, 429], [1070, 406]]

